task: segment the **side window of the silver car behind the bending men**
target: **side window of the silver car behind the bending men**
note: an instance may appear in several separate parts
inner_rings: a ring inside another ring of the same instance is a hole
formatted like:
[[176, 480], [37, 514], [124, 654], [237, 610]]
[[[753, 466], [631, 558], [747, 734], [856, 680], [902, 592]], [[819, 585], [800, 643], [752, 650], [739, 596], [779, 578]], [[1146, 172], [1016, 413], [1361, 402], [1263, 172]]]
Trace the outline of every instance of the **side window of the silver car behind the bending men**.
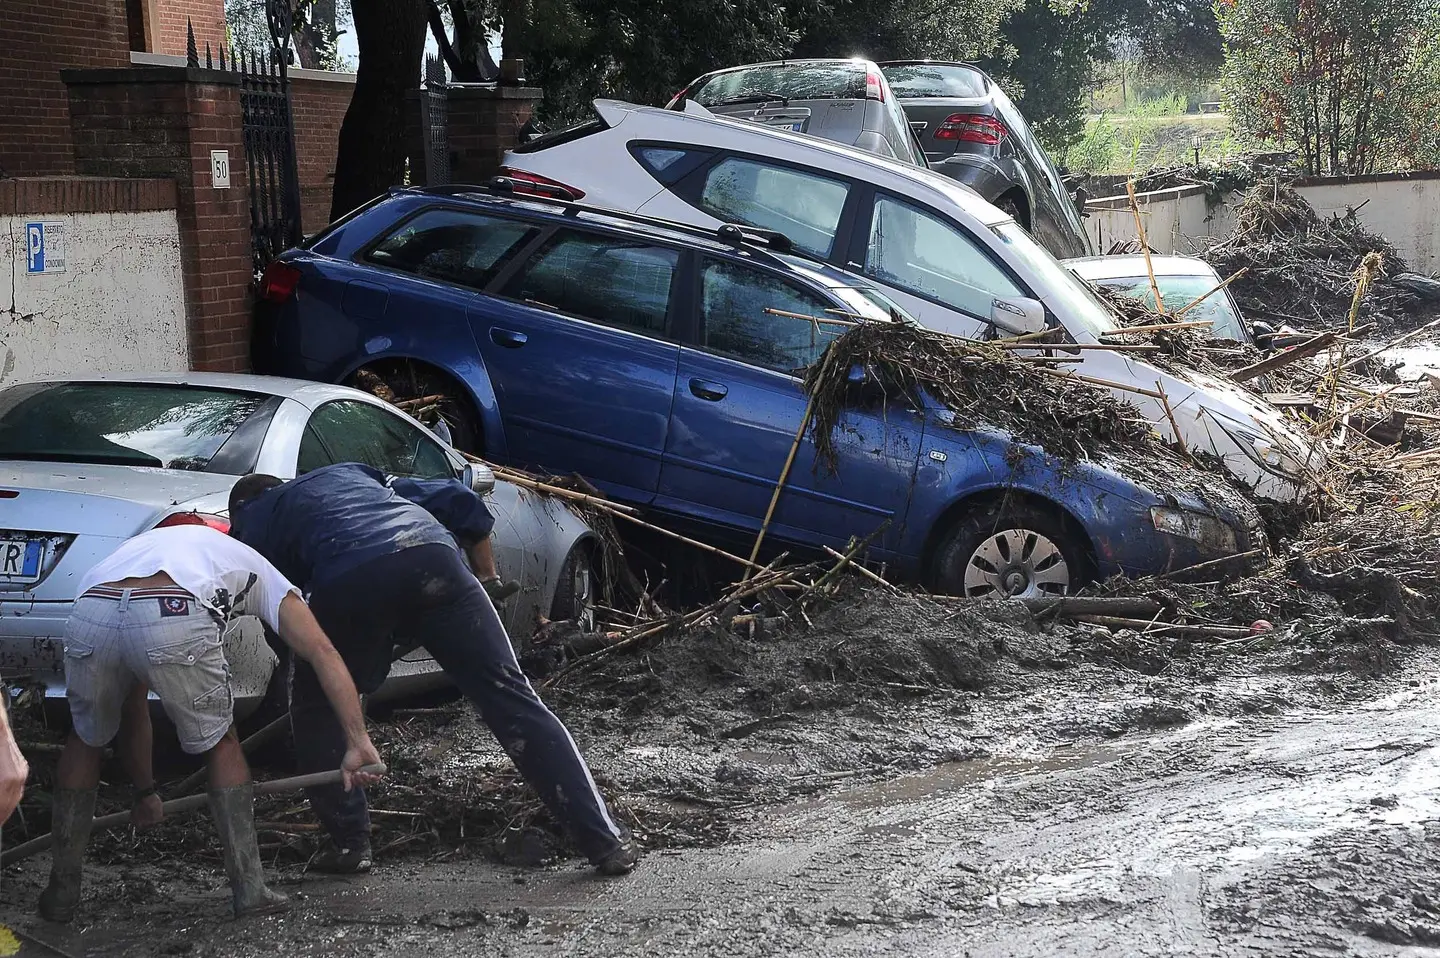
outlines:
[[426, 431], [380, 406], [337, 399], [315, 409], [300, 441], [295, 473], [334, 462], [364, 462], [387, 475], [452, 478], [455, 467]]

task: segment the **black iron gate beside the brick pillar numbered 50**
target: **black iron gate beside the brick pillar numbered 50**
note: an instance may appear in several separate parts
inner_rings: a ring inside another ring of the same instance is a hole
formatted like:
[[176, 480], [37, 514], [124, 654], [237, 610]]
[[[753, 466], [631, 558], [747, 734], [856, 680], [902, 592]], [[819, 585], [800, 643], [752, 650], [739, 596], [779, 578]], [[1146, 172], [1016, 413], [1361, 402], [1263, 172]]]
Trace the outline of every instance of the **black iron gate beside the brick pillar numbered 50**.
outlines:
[[[295, 120], [289, 102], [287, 50], [292, 27], [289, 0], [268, 0], [271, 49], [233, 52], [226, 61], [220, 46], [219, 69], [240, 76], [240, 130], [245, 141], [245, 171], [251, 192], [251, 254], [256, 277], [275, 256], [304, 238], [300, 222], [300, 171], [295, 164]], [[200, 65], [194, 30], [189, 36], [189, 61]], [[210, 45], [204, 65], [212, 62]]]

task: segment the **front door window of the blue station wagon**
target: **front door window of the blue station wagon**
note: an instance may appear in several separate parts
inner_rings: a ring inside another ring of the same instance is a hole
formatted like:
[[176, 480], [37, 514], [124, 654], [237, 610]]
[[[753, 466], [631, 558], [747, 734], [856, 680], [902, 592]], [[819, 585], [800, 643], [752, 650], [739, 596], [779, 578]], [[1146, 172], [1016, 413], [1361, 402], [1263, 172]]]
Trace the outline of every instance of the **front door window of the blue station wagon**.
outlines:
[[815, 363], [844, 326], [821, 297], [762, 269], [706, 261], [700, 274], [703, 344], [726, 356], [796, 373]]

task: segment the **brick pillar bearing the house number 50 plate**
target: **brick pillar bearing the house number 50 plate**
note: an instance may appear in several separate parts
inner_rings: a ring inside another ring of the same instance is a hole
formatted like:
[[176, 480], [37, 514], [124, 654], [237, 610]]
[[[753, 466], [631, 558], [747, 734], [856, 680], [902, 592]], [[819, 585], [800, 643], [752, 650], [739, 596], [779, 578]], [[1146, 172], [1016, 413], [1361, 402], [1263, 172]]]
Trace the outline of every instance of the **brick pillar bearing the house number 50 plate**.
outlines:
[[[239, 76], [184, 66], [60, 71], [76, 171], [176, 183], [190, 366], [249, 369], [251, 216]], [[230, 154], [215, 189], [210, 151]]]

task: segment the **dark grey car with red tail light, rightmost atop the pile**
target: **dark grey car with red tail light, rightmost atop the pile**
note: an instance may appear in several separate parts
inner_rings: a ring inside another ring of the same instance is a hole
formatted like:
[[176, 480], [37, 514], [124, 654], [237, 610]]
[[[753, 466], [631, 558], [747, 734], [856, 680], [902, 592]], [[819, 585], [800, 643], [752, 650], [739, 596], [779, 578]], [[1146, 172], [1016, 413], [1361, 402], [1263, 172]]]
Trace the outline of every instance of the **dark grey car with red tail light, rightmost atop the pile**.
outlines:
[[932, 170], [1014, 216], [1057, 258], [1090, 255], [1080, 210], [1030, 124], [985, 71], [942, 61], [880, 63]]

